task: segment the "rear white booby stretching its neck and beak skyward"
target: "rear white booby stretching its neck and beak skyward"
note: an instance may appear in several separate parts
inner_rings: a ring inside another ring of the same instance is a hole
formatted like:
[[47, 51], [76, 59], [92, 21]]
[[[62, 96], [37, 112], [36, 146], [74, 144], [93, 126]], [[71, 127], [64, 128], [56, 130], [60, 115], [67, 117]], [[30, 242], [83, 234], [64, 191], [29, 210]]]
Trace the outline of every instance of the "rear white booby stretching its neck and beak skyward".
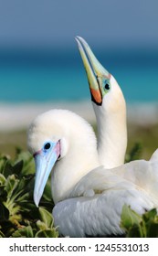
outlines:
[[127, 147], [126, 103], [113, 76], [102, 67], [89, 45], [76, 37], [86, 69], [97, 119], [100, 164], [113, 168], [124, 163]]

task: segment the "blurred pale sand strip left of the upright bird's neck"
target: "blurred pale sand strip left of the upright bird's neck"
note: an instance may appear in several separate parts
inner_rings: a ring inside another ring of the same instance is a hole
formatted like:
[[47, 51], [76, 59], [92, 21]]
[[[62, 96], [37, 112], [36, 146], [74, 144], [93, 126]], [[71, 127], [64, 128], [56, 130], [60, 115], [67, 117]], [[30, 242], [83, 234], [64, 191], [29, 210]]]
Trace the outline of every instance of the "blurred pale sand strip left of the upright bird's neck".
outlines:
[[71, 110], [78, 113], [90, 123], [95, 121], [95, 116], [89, 101], [0, 103], [0, 132], [26, 129], [37, 114], [50, 109]]

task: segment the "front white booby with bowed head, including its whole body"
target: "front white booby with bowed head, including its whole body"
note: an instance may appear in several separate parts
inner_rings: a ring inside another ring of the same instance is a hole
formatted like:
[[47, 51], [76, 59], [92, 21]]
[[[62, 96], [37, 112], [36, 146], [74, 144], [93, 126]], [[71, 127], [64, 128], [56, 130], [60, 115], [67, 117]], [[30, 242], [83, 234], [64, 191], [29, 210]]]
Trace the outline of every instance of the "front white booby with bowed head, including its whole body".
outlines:
[[65, 110], [37, 116], [27, 143], [36, 163], [34, 201], [38, 206], [52, 170], [53, 217], [64, 236], [119, 235], [124, 204], [139, 214], [158, 206], [158, 151], [151, 161], [105, 171], [90, 124]]

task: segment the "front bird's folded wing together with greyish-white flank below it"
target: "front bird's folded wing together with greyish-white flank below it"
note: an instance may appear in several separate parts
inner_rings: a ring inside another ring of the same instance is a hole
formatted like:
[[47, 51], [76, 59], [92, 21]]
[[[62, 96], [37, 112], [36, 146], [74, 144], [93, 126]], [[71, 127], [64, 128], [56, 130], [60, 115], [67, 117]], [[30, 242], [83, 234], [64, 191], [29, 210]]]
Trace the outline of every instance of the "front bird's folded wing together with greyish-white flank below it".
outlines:
[[53, 217], [64, 236], [122, 234], [124, 204], [139, 214], [155, 206], [142, 188], [100, 166], [80, 179], [68, 199], [58, 202]]

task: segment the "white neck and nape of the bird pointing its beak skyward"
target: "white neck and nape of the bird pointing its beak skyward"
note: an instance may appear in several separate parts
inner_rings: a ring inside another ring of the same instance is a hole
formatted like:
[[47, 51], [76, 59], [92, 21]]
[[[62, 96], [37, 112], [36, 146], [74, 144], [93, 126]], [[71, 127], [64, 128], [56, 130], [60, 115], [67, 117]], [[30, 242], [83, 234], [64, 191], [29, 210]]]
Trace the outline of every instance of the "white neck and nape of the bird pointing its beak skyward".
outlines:
[[92, 102], [97, 120], [100, 164], [113, 168], [124, 163], [127, 147], [126, 103], [117, 81], [111, 76], [111, 91], [99, 106]]

